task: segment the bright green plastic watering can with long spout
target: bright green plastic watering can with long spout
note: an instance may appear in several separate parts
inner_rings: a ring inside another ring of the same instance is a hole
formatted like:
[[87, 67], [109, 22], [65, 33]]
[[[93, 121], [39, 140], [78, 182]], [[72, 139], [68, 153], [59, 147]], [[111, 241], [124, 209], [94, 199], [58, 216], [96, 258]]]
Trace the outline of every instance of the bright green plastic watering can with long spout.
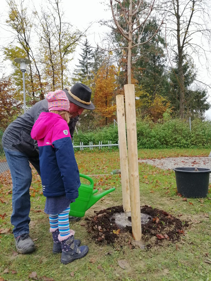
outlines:
[[93, 190], [94, 182], [93, 179], [83, 175], [79, 174], [80, 177], [83, 177], [84, 179], [87, 179], [90, 181], [90, 185], [86, 185], [82, 183], [78, 189], [78, 198], [75, 199], [75, 202], [72, 202], [70, 204], [70, 216], [73, 217], [83, 217], [85, 215], [85, 212], [93, 206], [99, 199], [101, 199], [106, 194], [112, 192], [115, 190], [115, 188], [108, 189], [100, 194], [94, 195], [98, 190]]

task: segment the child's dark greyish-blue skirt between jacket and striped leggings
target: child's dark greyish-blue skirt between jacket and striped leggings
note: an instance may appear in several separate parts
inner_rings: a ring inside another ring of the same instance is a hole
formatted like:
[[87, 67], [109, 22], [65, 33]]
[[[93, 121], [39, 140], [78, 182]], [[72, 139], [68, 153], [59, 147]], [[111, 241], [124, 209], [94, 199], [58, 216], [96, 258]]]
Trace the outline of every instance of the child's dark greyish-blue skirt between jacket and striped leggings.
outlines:
[[46, 197], [44, 211], [48, 215], [57, 215], [66, 210], [72, 202], [75, 200], [66, 198], [66, 195]]

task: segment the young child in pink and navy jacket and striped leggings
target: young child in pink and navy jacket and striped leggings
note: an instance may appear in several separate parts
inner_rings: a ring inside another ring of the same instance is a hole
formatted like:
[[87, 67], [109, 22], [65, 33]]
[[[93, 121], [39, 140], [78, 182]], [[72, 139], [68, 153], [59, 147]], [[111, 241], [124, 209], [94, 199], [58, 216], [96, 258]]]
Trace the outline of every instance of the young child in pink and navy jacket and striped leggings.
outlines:
[[35, 122], [31, 136], [37, 140], [45, 213], [49, 214], [53, 235], [53, 253], [61, 253], [61, 262], [70, 263], [83, 258], [88, 246], [74, 240], [75, 232], [69, 226], [70, 203], [78, 197], [80, 177], [71, 142], [69, 100], [58, 90], [46, 96], [49, 112], [42, 112]]

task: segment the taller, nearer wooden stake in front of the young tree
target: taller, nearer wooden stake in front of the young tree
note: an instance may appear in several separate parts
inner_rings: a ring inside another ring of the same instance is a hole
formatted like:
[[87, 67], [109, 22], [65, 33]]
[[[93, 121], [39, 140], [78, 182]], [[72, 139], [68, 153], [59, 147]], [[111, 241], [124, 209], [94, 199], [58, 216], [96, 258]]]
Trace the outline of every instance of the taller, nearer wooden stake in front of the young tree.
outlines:
[[130, 181], [132, 234], [134, 239], [136, 241], [139, 241], [141, 240], [141, 213], [136, 133], [135, 87], [133, 84], [127, 84], [124, 85], [124, 90], [127, 123], [127, 149]]

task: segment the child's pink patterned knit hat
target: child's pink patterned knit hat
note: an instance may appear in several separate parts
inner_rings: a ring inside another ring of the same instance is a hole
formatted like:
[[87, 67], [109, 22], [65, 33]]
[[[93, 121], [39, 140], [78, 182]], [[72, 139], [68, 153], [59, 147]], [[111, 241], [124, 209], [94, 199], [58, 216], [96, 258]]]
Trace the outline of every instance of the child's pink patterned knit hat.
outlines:
[[69, 111], [70, 102], [62, 90], [49, 92], [45, 97], [48, 101], [48, 110], [66, 110]]

